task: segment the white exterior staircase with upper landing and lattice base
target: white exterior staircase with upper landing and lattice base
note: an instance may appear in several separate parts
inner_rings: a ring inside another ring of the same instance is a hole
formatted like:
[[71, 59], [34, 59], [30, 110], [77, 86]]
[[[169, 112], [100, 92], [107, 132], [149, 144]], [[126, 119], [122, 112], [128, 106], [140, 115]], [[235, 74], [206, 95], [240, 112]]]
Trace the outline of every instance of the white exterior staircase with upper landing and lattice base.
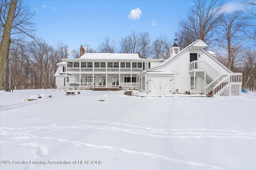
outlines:
[[208, 97], [240, 96], [242, 88], [242, 73], [220, 74], [205, 61], [192, 61], [189, 63], [189, 72], [198, 72], [209, 84], [204, 88]]

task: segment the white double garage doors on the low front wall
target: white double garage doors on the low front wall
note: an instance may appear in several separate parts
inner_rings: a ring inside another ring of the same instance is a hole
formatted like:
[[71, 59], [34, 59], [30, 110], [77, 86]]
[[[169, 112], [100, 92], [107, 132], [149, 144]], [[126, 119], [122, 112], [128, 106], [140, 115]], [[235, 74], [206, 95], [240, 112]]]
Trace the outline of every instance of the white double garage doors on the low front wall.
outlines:
[[150, 77], [149, 94], [172, 94], [172, 77]]

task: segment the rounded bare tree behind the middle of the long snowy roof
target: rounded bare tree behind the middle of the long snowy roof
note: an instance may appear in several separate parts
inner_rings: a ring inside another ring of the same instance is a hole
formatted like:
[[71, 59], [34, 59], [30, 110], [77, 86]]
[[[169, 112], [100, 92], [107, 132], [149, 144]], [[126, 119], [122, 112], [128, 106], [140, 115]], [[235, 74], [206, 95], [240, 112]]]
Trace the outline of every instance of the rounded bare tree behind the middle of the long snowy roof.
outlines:
[[99, 53], [115, 53], [116, 52], [116, 45], [114, 42], [114, 39], [111, 39], [110, 37], [105, 37], [104, 41], [100, 43], [98, 46], [98, 52]]

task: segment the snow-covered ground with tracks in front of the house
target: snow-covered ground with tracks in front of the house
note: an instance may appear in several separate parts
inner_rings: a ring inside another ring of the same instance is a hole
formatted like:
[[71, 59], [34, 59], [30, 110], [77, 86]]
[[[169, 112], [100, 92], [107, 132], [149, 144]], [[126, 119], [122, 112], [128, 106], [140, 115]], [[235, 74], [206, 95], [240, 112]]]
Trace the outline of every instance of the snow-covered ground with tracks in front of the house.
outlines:
[[1, 170], [256, 169], [255, 93], [65, 94], [0, 92]]

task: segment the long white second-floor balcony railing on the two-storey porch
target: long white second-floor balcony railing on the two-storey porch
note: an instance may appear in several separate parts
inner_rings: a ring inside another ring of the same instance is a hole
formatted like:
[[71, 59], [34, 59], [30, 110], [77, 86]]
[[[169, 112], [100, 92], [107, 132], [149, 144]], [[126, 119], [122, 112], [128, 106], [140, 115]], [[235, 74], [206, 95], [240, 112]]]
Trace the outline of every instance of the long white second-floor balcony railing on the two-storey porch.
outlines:
[[[67, 67], [67, 72], [80, 72], [79, 67]], [[92, 68], [81, 67], [81, 72], [141, 72], [142, 68]]]

